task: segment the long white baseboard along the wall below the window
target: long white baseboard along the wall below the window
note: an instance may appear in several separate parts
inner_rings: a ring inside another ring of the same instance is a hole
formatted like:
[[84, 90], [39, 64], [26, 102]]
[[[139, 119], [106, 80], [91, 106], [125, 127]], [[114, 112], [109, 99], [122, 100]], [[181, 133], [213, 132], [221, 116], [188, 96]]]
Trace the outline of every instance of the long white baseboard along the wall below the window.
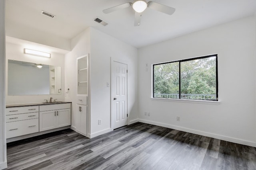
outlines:
[[188, 129], [188, 128], [185, 128], [185, 127], [169, 125], [169, 124], [166, 124], [166, 123], [160, 123], [160, 122], [156, 122], [156, 121], [148, 121], [148, 120], [144, 120], [144, 119], [138, 119], [138, 122], [148, 123], [148, 124], [151, 124], [151, 125], [157, 125], [157, 126], [162, 126], [162, 127], [167, 127], [167, 128], [170, 128], [170, 129], [175, 129], [175, 130], [179, 130], [179, 131], [184, 131], [184, 132], [188, 132], [188, 133], [194, 133], [194, 134], [197, 134], [197, 135], [203, 135], [203, 136], [206, 136], [206, 137], [212, 137], [212, 138], [215, 138], [215, 139], [220, 139], [220, 140], [223, 140], [223, 141], [228, 141], [228, 142], [232, 142], [232, 143], [238, 143], [238, 144], [242, 144], [242, 145], [256, 147], [255, 142], [245, 141], [245, 140], [232, 138], [232, 137], [226, 137], [226, 136], [217, 135], [217, 134], [214, 134], [214, 133], [208, 133], [208, 132], [204, 132], [204, 131], [198, 131], [198, 130], [194, 130], [194, 129]]

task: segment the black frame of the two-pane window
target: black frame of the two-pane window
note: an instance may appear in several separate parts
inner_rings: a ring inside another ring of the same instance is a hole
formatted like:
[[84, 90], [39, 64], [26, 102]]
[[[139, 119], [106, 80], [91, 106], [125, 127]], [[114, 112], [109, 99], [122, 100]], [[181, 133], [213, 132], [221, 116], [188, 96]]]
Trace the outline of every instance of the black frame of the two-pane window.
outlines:
[[[181, 72], [180, 72], [180, 63], [185, 62], [185, 61], [192, 61], [192, 60], [197, 60], [197, 59], [205, 59], [205, 58], [210, 58], [210, 57], [216, 57], [216, 100], [202, 100], [202, 99], [181, 99], [180, 94], [181, 94]], [[156, 98], [154, 97], [154, 66], [160, 65], [160, 64], [168, 64], [168, 63], [176, 63], [179, 62], [179, 98]], [[176, 99], [176, 100], [198, 100], [198, 101], [218, 101], [218, 54], [213, 54], [213, 55], [206, 55], [206, 56], [201, 56], [201, 57], [193, 57], [189, 59], [182, 59], [182, 60], [176, 60], [176, 61], [169, 61], [169, 62], [164, 62], [164, 63], [157, 63], [157, 64], [152, 64], [152, 98], [154, 99]]]

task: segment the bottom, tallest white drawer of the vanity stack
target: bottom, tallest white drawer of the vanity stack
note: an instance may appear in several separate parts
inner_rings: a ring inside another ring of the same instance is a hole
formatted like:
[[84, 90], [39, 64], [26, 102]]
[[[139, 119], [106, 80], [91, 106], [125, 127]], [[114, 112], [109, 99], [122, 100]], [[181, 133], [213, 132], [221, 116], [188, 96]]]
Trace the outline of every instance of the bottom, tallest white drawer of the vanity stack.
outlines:
[[38, 118], [6, 123], [6, 138], [17, 137], [36, 132], [39, 132]]

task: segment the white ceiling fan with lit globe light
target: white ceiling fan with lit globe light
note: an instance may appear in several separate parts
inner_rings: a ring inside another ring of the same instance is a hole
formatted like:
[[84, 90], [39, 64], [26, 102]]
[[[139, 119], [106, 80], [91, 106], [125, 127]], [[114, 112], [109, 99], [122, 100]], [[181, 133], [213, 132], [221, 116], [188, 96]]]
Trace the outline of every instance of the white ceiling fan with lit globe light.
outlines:
[[142, 12], [144, 10], [146, 10], [146, 8], [151, 8], [153, 10], [157, 10], [159, 12], [163, 12], [165, 14], [168, 15], [172, 15], [175, 12], [175, 8], [172, 8], [170, 6], [166, 6], [163, 4], [158, 4], [156, 2], [146, 2], [146, 0], [134, 0], [134, 2], [127, 2], [125, 4], [121, 4], [118, 6], [114, 6], [112, 8], [108, 8], [106, 10], [103, 10], [102, 12], [104, 12], [105, 14], [108, 14], [110, 12], [114, 12], [116, 10], [120, 10], [120, 9], [124, 9], [124, 8], [128, 8], [132, 6], [132, 8], [135, 11], [135, 21], [134, 21], [134, 26], [139, 26], [140, 25], [140, 19], [142, 16]]

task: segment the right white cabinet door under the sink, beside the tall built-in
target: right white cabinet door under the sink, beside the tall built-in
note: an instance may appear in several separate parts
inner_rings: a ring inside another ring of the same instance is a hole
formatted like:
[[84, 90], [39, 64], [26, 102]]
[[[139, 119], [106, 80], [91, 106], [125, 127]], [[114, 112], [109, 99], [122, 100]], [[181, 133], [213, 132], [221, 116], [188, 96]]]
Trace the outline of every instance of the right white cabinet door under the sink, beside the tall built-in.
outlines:
[[70, 109], [56, 110], [56, 128], [71, 125]]

